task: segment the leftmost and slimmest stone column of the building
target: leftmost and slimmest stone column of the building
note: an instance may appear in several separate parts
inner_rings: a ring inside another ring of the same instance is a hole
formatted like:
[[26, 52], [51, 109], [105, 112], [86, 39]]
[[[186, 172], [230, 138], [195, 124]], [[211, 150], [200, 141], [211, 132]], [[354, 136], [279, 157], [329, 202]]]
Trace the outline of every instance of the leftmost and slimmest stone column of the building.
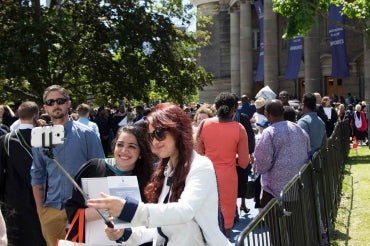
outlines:
[[240, 13], [230, 7], [230, 77], [231, 92], [240, 95]]

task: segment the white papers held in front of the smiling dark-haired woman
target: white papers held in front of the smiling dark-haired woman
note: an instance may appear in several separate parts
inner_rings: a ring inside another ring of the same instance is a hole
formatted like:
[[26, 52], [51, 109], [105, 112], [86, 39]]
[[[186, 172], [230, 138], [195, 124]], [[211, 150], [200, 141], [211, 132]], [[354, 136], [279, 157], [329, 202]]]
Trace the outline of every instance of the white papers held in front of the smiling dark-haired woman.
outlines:
[[[89, 198], [101, 198], [100, 193], [126, 198], [131, 196], [141, 201], [139, 185], [136, 176], [110, 176], [101, 178], [82, 178], [82, 189]], [[104, 214], [104, 213], [103, 213]], [[108, 215], [106, 215], [108, 216]], [[103, 219], [86, 222], [85, 243], [95, 246], [119, 245], [110, 241], [105, 232], [106, 225]], [[130, 227], [129, 223], [114, 219], [114, 228], [122, 229]]]

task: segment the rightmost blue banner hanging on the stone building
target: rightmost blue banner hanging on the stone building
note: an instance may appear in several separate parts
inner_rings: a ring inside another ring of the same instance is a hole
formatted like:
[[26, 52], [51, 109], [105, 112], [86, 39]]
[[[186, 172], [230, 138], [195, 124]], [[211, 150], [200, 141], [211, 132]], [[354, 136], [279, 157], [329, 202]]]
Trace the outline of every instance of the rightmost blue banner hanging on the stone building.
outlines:
[[332, 57], [331, 76], [334, 78], [349, 76], [345, 33], [343, 26], [340, 25], [344, 24], [345, 18], [341, 15], [341, 10], [342, 6], [330, 5], [329, 8], [329, 39]]

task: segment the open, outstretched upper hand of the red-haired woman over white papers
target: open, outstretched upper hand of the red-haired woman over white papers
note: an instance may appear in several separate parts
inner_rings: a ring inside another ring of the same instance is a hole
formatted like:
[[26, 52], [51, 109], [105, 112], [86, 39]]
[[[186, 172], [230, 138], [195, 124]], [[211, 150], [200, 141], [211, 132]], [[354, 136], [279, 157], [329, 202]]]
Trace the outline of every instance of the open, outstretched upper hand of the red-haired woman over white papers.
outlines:
[[87, 206], [97, 209], [106, 209], [110, 216], [118, 217], [125, 206], [126, 200], [104, 193], [100, 193], [100, 196], [102, 197], [100, 199], [87, 200]]

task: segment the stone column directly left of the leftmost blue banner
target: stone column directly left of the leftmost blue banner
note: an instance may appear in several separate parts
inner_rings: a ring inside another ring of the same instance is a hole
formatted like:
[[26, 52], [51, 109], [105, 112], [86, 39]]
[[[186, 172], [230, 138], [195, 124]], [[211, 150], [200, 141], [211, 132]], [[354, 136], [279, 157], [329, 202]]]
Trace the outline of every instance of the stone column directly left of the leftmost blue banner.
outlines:
[[250, 98], [253, 93], [254, 81], [251, 16], [250, 1], [240, 0], [240, 94]]

